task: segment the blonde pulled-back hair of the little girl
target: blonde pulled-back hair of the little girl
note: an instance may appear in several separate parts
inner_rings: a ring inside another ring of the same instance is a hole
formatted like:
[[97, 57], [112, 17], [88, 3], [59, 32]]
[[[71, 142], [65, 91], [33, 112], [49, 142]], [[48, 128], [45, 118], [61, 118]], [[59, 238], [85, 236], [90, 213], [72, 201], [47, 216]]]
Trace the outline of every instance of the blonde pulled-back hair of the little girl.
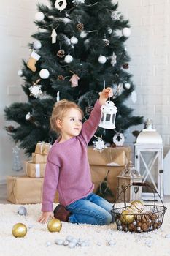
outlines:
[[84, 114], [81, 108], [75, 102], [70, 102], [69, 100], [62, 99], [59, 102], [56, 102], [53, 107], [53, 111], [50, 117], [51, 129], [53, 129], [57, 133], [61, 132], [61, 130], [58, 128], [56, 124], [56, 120], [58, 119], [62, 120], [63, 116], [66, 114], [66, 111], [68, 111], [70, 108], [75, 108], [78, 111], [80, 111], [83, 117]]

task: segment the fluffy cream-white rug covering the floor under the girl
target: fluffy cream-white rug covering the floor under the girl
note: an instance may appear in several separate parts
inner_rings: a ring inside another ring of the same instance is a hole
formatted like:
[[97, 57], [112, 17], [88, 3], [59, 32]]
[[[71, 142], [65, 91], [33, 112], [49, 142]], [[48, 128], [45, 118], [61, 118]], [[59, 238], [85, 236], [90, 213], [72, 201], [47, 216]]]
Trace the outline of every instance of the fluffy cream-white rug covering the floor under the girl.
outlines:
[[[125, 233], [117, 231], [114, 224], [108, 226], [73, 225], [62, 222], [60, 233], [50, 233], [47, 225], [36, 222], [41, 205], [27, 205], [27, 215], [18, 215], [18, 205], [0, 205], [0, 256], [168, 256], [170, 255], [170, 204], [166, 204], [164, 222], [159, 230], [150, 233]], [[12, 226], [22, 222], [28, 227], [24, 238], [12, 236]], [[55, 239], [73, 236], [88, 241], [88, 246], [55, 244]], [[47, 246], [47, 242], [50, 246]], [[111, 244], [111, 245], [109, 245]]]

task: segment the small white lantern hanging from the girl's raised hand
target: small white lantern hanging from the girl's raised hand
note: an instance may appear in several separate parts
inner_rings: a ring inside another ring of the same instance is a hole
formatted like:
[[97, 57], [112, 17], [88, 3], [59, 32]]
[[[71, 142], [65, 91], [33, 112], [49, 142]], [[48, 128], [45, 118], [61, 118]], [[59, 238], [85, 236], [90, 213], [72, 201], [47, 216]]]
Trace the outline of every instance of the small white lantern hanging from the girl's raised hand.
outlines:
[[107, 101], [101, 106], [101, 121], [99, 127], [104, 129], [115, 129], [115, 118], [117, 108], [113, 102]]

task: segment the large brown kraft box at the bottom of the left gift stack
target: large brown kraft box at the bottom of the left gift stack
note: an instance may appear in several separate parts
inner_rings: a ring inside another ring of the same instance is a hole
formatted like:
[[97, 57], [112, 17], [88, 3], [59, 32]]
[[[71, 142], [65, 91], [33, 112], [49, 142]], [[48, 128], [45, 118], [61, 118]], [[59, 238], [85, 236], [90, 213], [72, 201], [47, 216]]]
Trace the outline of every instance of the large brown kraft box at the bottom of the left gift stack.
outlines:
[[[42, 203], [44, 178], [7, 176], [7, 200], [16, 204]], [[54, 203], [58, 203], [56, 192]]]

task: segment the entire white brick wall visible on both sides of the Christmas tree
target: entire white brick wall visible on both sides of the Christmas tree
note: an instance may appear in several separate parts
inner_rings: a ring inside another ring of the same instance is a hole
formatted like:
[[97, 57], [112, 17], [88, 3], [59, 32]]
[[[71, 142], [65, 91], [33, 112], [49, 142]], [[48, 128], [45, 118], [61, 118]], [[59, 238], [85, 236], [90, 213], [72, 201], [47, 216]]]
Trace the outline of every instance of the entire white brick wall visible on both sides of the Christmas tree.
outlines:
[[[115, 1], [115, 0], [114, 0]], [[47, 0], [0, 0], [0, 182], [12, 174], [12, 140], [3, 127], [4, 106], [12, 102], [25, 101], [20, 90], [21, 80], [17, 72], [22, 58], [28, 59], [31, 51], [28, 42], [36, 31], [33, 20], [36, 3], [48, 4]], [[117, 1], [115, 1], [117, 2]], [[170, 1], [169, 0], [120, 0], [119, 10], [130, 20], [131, 37], [126, 45], [131, 56], [129, 72], [134, 75], [137, 102], [131, 99], [127, 104], [134, 108], [134, 114], [151, 118], [160, 132], [166, 148], [170, 146]], [[126, 132], [126, 143], [133, 145], [131, 127]], [[23, 154], [21, 154], [23, 157]]]

